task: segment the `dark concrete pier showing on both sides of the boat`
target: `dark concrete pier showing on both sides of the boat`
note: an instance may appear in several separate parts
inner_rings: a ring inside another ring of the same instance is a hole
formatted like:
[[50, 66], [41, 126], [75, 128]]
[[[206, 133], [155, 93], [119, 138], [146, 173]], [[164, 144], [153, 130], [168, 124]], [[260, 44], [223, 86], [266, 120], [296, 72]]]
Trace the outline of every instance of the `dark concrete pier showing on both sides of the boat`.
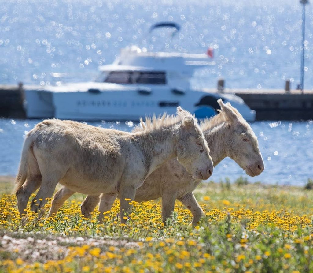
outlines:
[[[206, 91], [218, 92], [218, 89], [206, 89]], [[222, 92], [241, 97], [251, 109], [256, 111], [256, 120], [313, 119], [313, 90], [305, 90], [301, 94], [299, 90], [286, 92], [283, 89], [223, 88]], [[0, 117], [25, 118], [23, 97], [22, 84], [0, 85]]]

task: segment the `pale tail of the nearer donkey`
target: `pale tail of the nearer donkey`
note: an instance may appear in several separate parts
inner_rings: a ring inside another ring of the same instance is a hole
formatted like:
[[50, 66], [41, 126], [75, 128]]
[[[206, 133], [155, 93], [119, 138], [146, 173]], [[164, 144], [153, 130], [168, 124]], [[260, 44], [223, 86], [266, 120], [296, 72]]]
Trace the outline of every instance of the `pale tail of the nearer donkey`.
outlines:
[[15, 178], [15, 190], [14, 190], [15, 193], [18, 191], [19, 188], [23, 186], [23, 184], [26, 181], [29, 163], [30, 164], [35, 163], [38, 166], [37, 160], [33, 155], [32, 149], [33, 149], [33, 137], [32, 135], [28, 134], [23, 144], [21, 161], [18, 166], [18, 174]]

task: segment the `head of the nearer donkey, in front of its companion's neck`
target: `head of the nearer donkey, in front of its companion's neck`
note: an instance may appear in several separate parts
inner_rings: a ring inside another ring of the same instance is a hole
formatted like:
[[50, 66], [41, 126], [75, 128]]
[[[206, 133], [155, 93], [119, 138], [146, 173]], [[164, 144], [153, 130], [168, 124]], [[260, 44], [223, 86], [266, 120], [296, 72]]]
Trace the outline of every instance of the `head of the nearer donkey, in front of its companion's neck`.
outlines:
[[177, 159], [194, 178], [206, 180], [213, 172], [213, 162], [208, 144], [197, 120], [181, 107], [177, 115], [182, 116], [177, 132]]

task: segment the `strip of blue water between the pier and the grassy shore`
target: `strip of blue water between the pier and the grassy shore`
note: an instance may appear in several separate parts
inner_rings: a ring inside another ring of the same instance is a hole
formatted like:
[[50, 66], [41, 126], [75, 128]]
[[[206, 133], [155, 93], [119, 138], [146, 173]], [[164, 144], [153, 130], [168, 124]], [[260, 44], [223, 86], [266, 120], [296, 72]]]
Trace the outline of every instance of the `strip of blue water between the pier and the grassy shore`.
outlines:
[[[25, 134], [40, 120], [0, 119], [0, 176], [15, 176], [18, 171]], [[102, 128], [131, 131], [133, 122], [88, 122]], [[248, 181], [270, 184], [303, 185], [313, 178], [313, 122], [254, 122], [252, 129], [259, 140], [265, 170], [249, 177], [233, 160], [226, 158], [213, 171], [209, 180], [220, 181], [226, 177], [234, 181], [239, 176]]]

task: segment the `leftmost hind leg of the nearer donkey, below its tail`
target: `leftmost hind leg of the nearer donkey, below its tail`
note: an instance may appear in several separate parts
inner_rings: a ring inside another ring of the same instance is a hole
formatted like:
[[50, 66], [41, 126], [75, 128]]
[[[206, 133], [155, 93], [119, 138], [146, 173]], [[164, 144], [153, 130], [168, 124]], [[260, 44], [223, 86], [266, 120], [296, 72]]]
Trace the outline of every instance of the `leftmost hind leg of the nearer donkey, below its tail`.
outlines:
[[29, 197], [35, 192], [41, 184], [41, 176], [38, 175], [31, 179], [27, 179], [26, 183], [18, 189], [16, 192], [16, 198], [18, 203], [18, 211], [20, 215], [24, 213], [27, 207]]

